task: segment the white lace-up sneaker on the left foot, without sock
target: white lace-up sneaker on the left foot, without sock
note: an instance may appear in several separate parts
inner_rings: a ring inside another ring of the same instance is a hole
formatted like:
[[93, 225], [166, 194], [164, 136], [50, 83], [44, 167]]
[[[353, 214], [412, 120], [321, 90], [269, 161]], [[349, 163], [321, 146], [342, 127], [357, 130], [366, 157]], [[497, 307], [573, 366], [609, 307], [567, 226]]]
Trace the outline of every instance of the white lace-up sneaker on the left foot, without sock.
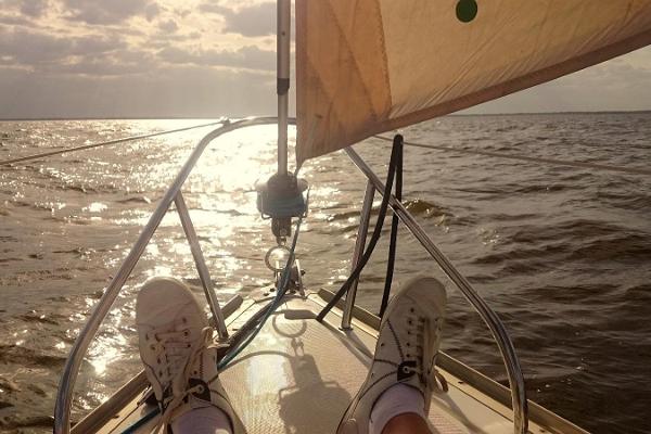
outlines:
[[[159, 426], [195, 408], [215, 406], [244, 433], [219, 382], [213, 329], [190, 290], [171, 278], [148, 280], [138, 294], [140, 358], [161, 408]], [[156, 430], [157, 432], [157, 430]]]

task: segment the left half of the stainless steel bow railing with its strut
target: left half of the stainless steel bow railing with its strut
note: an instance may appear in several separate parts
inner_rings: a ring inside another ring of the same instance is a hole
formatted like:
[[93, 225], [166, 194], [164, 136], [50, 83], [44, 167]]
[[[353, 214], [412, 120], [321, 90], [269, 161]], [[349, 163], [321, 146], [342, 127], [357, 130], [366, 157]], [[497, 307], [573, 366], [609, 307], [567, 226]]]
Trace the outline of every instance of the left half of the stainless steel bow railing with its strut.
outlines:
[[[217, 128], [216, 130], [206, 135], [199, 142], [196, 148], [192, 151], [190, 157], [188, 158], [188, 161], [182, 166], [181, 170], [173, 181], [169, 190], [167, 190], [167, 192], [158, 203], [158, 206], [156, 206], [156, 209], [154, 210], [144, 229], [140, 233], [138, 241], [136, 242], [133, 247], [131, 247], [131, 251], [129, 252], [126, 259], [115, 273], [115, 277], [111, 280], [111, 283], [108, 283], [108, 286], [102, 295], [102, 298], [100, 298], [100, 301], [98, 302], [88, 322], [86, 323], [86, 326], [84, 326], [84, 329], [79, 333], [79, 336], [77, 336], [77, 340], [75, 341], [75, 344], [71, 349], [69, 356], [66, 360], [63, 373], [61, 375], [59, 391], [56, 393], [56, 404], [54, 406], [54, 434], [69, 433], [73, 392], [75, 387], [75, 382], [77, 380], [77, 375], [79, 374], [79, 367], [81, 365], [81, 360], [84, 359], [84, 356], [86, 356], [88, 347], [94, 339], [102, 321], [111, 310], [113, 302], [115, 302], [115, 298], [119, 294], [128, 277], [136, 267], [136, 264], [142, 256], [142, 253], [144, 252], [152, 235], [158, 228], [161, 220], [169, 209], [173, 202], [176, 202], [177, 210], [181, 219], [183, 230], [190, 243], [192, 255], [197, 267], [197, 271], [200, 275], [202, 285], [204, 288], [204, 292], [206, 294], [206, 298], [208, 301], [208, 305], [210, 306], [210, 311], [213, 314], [213, 319], [217, 327], [219, 337], [226, 339], [228, 336], [226, 324], [224, 322], [224, 315], [219, 307], [219, 303], [217, 302], [217, 296], [215, 294], [210, 277], [208, 275], [208, 269], [203, 259], [203, 254], [199, 245], [199, 240], [196, 238], [196, 233], [194, 232], [194, 227], [192, 225], [190, 215], [188, 213], [188, 208], [181, 194], [181, 187], [183, 186], [186, 179], [188, 179], [188, 176], [196, 165], [196, 162], [201, 157], [202, 153], [213, 140], [215, 140], [219, 136], [222, 136], [227, 132], [233, 131], [239, 128], [252, 127], [256, 125], [276, 124], [277, 122], [278, 119], [276, 117], [257, 117], [225, 124], [222, 127]], [[290, 123], [293, 123], [293, 120], [290, 120]]]

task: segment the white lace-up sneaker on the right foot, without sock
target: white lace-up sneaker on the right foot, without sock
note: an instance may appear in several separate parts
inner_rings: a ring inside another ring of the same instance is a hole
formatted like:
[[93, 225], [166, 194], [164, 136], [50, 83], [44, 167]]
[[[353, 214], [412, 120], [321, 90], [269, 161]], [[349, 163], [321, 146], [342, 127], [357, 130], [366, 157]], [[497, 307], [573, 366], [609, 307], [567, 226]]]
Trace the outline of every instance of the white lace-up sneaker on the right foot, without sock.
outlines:
[[[373, 406], [391, 386], [417, 388], [430, 410], [436, 385], [436, 355], [445, 314], [445, 288], [434, 278], [418, 277], [391, 301], [366, 381], [340, 422], [339, 434], [367, 434]], [[446, 385], [442, 380], [442, 387]]]

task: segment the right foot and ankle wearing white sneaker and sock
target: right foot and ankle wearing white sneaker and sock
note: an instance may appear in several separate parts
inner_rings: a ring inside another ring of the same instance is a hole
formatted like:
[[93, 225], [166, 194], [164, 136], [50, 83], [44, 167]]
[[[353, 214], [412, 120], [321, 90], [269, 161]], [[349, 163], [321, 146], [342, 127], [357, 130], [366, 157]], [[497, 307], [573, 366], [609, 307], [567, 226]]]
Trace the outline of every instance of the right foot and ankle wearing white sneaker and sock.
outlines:
[[445, 314], [436, 279], [411, 280], [392, 299], [380, 326], [365, 383], [339, 434], [431, 434], [427, 422]]

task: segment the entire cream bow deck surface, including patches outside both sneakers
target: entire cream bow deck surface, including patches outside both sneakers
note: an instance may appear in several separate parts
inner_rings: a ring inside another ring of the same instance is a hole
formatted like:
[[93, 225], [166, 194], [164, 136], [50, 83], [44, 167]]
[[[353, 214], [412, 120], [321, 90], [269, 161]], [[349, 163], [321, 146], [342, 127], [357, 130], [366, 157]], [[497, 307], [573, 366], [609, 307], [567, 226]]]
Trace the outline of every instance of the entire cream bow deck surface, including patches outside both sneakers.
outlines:
[[[332, 434], [366, 379], [376, 332], [355, 322], [344, 333], [337, 312], [324, 323], [314, 317], [316, 295], [294, 298], [269, 318], [258, 336], [220, 374], [234, 409], [250, 434]], [[237, 330], [261, 305], [245, 303], [231, 318]], [[433, 395], [430, 420], [441, 434], [513, 432], [511, 410], [443, 372], [449, 392]], [[122, 433], [151, 408], [133, 400], [102, 433]], [[150, 432], [153, 423], [137, 432]], [[546, 433], [534, 423], [529, 432]]]

